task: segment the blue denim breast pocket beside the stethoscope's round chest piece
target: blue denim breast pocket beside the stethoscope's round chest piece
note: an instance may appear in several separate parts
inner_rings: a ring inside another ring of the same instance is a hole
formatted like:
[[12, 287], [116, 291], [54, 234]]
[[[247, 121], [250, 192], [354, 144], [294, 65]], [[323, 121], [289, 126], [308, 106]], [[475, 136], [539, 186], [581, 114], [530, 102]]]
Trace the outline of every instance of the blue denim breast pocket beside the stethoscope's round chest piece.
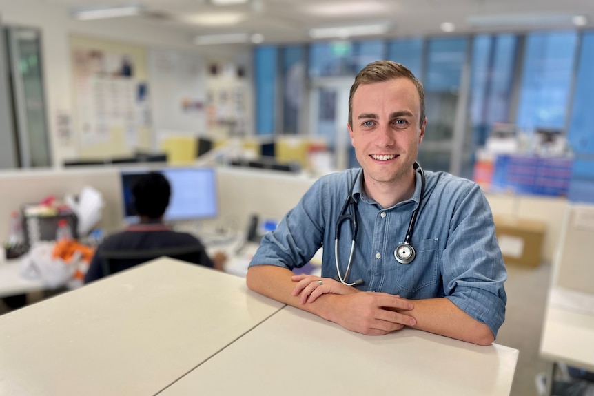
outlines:
[[416, 256], [410, 264], [396, 262], [400, 289], [415, 293], [438, 282], [438, 242], [438, 238], [422, 240], [413, 246]]

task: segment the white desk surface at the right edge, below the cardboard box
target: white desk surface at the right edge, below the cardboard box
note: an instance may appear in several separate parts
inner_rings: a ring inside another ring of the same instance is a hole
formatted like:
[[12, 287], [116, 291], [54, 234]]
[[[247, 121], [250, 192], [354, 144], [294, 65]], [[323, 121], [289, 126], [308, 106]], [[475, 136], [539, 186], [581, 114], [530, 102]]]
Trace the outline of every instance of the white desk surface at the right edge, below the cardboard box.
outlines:
[[544, 315], [540, 355], [551, 362], [594, 371], [594, 315], [549, 305]]

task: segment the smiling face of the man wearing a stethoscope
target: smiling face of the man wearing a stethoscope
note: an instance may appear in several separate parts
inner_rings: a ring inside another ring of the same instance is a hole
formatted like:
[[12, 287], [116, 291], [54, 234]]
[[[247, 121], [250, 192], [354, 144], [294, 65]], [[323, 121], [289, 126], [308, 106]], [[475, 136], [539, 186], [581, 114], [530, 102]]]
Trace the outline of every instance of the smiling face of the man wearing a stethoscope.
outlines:
[[[352, 105], [351, 144], [368, 181], [398, 183], [413, 172], [427, 121], [409, 79], [360, 85]], [[371, 180], [369, 180], [371, 178]]]

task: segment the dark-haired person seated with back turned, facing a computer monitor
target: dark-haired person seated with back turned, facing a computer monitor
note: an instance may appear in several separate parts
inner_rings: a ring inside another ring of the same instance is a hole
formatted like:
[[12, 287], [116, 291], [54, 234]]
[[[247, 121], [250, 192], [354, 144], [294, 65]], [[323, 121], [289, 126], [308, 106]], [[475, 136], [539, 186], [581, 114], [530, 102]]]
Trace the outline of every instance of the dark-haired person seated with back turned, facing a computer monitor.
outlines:
[[[169, 205], [171, 186], [162, 174], [151, 172], [142, 176], [132, 187], [134, 206], [140, 216], [140, 223], [130, 225], [125, 231], [115, 233], [105, 238], [105, 241], [94, 254], [85, 275], [85, 283], [103, 278], [103, 251], [132, 251], [165, 249], [171, 247], [187, 247], [199, 245], [201, 242], [189, 233], [172, 231], [163, 224], [163, 214]], [[200, 205], [196, 202], [196, 205]], [[206, 253], [196, 258], [196, 264], [218, 270], [223, 269], [226, 256], [217, 253], [211, 260]]]

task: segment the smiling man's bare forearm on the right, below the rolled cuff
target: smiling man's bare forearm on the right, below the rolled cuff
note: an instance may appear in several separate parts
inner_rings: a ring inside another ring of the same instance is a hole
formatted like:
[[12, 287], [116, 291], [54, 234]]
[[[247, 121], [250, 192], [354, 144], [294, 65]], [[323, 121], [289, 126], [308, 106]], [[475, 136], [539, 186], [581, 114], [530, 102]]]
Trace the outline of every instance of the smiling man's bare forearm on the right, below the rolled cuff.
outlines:
[[487, 324], [478, 322], [473, 317], [455, 306], [447, 298], [411, 300], [414, 309], [402, 311], [417, 320], [415, 329], [428, 331], [478, 345], [489, 345], [495, 338]]

